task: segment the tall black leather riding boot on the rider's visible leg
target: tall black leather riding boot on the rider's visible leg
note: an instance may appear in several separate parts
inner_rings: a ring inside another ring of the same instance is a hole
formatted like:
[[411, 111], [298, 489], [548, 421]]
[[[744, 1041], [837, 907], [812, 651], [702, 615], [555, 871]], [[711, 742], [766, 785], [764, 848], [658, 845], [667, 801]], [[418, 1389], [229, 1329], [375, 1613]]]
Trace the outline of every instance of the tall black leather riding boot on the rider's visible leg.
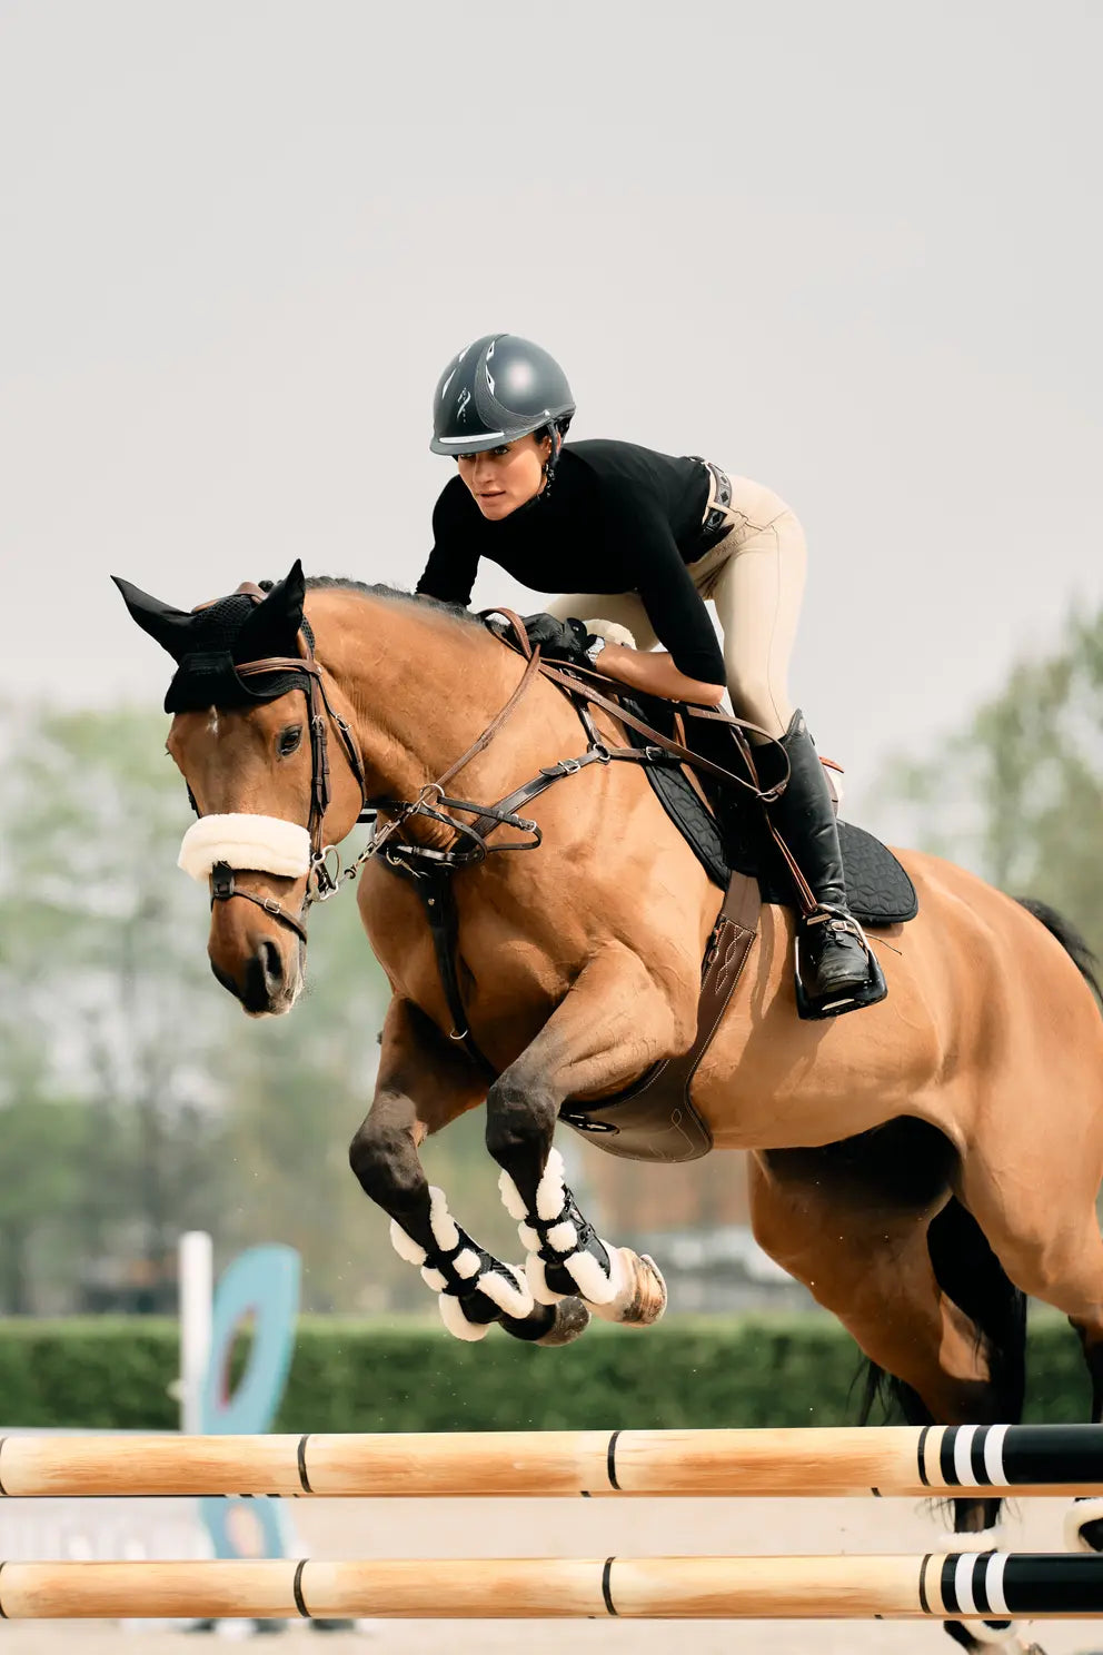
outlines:
[[881, 968], [847, 905], [847, 879], [827, 776], [804, 715], [782, 736], [789, 786], [769, 806], [779, 834], [804, 874], [815, 912], [797, 933], [797, 1008], [804, 1018], [838, 1016], [888, 993]]

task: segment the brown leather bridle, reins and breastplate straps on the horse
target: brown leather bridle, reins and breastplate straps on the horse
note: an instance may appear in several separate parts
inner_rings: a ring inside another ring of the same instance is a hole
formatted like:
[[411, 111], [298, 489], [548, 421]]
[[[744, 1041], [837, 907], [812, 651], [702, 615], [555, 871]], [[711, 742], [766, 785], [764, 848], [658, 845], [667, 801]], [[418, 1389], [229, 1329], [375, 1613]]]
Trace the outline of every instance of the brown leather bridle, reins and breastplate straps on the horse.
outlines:
[[[248, 591], [250, 596], [256, 596], [258, 601], [263, 597], [260, 588], [245, 588], [245, 591]], [[774, 803], [774, 799], [784, 793], [789, 781], [789, 766], [785, 760], [785, 773], [781, 781], [777, 781], [772, 788], [761, 788], [757, 784], [757, 771], [746, 732], [754, 732], [756, 735], [764, 736], [766, 741], [774, 746], [779, 745], [774, 736], [771, 736], [766, 730], [759, 730], [757, 725], [752, 725], [747, 720], [731, 718], [728, 713], [714, 712], [704, 707], [685, 708], [685, 712], [695, 718], [709, 718], [731, 728], [739, 755], [747, 766], [747, 775], [752, 778], [747, 780], [746, 776], [739, 776], [726, 770], [723, 765], [714, 765], [711, 760], [691, 751], [673, 736], [666, 736], [661, 732], [653, 730], [642, 718], [637, 718], [635, 713], [627, 712], [627, 708], [623, 708], [617, 700], [604, 695], [592, 684], [587, 684], [587, 679], [590, 677], [587, 669], [575, 667], [574, 664], [562, 669], [542, 660], [539, 645], [532, 647], [532, 644], [529, 644], [523, 621], [511, 609], [481, 611], [483, 621], [489, 621], [491, 616], [501, 616], [509, 624], [509, 634], [504, 634], [498, 627], [491, 627], [494, 636], [499, 637], [506, 647], [516, 649], [526, 657], [521, 680], [509, 700], [486, 725], [471, 746], [461, 753], [461, 756], [455, 760], [455, 763], [450, 765], [443, 775], [440, 775], [435, 781], [427, 783], [415, 799], [385, 799], [369, 804], [364, 760], [352, 730], [334, 710], [329, 700], [322, 667], [314, 657], [314, 637], [306, 621], [303, 621], [303, 629], [299, 632], [303, 655], [273, 655], [265, 660], [251, 660], [236, 667], [236, 672], [241, 677], [256, 677], [266, 672], [289, 672], [304, 679], [303, 692], [308, 700], [311, 732], [311, 808], [308, 823], [311, 836], [311, 867], [306, 879], [306, 897], [301, 910], [303, 917], [314, 902], [326, 902], [329, 897], [336, 895], [346, 880], [356, 879], [361, 867], [364, 867], [364, 864], [375, 856], [382, 857], [382, 861], [394, 872], [413, 880], [415, 889], [422, 897], [425, 917], [433, 935], [440, 976], [453, 1019], [450, 1039], [461, 1043], [473, 1061], [488, 1076], [494, 1076], [496, 1071], [483, 1056], [471, 1036], [470, 1028], [466, 1026], [463, 996], [456, 975], [458, 915], [451, 880], [448, 877], [450, 874], [461, 867], [471, 867], [478, 862], [485, 862], [488, 856], [499, 851], [534, 851], [542, 842], [541, 829], [536, 821], [519, 813], [556, 781], [561, 781], [564, 776], [574, 776], [589, 765], [655, 765], [678, 761], [680, 765], [688, 765], [693, 770], [704, 771], [721, 781], [744, 788], [764, 804]], [[516, 712], [528, 690], [532, 684], [536, 684], [537, 677], [549, 679], [559, 685], [574, 705], [585, 732], [585, 751], [577, 758], [562, 758], [556, 765], [542, 765], [536, 776], [523, 783], [519, 788], [514, 788], [513, 793], [508, 793], [494, 804], [478, 804], [473, 799], [461, 799], [448, 794], [445, 789], [450, 781], [458, 776], [473, 758], [489, 746], [506, 720]], [[600, 679], [599, 674], [594, 674], [592, 677]], [[600, 682], [609, 684], [607, 679], [600, 679]], [[647, 736], [648, 745], [643, 748], [610, 746], [605, 740], [602, 740], [602, 735], [594, 723], [590, 707], [600, 707], [604, 712], [612, 713], [618, 723], [628, 725], [640, 735]], [[324, 844], [322, 841], [322, 824], [331, 799], [327, 748], [327, 730], [331, 723], [337, 730], [349, 768], [352, 770], [361, 789], [362, 808], [357, 821], [372, 823], [372, 837], [356, 861], [347, 867], [341, 866], [339, 849], [332, 844]], [[461, 821], [458, 816], [451, 814], [453, 811], [461, 811], [471, 819]], [[389, 818], [389, 821], [382, 826], [379, 824], [380, 814]], [[402, 837], [402, 829], [417, 816], [423, 816], [428, 821], [450, 828], [456, 836], [451, 849], [438, 851], [432, 846], [417, 844], [412, 839]], [[489, 836], [499, 828], [514, 828], [519, 832], [531, 834], [531, 837], [524, 841], [511, 839], [508, 844], [488, 844]], [[787, 856], [784, 844], [781, 847], [782, 854]], [[792, 866], [795, 871], [795, 864]], [[795, 874], [799, 877], [799, 871], [795, 871]], [[235, 871], [228, 864], [215, 864], [212, 869], [212, 907], [215, 902], [228, 902], [232, 897], [243, 897], [245, 900], [255, 902], [258, 907], [265, 909], [265, 912], [271, 914], [273, 919], [288, 925], [301, 938], [301, 942], [306, 943], [306, 927], [303, 919], [289, 914], [273, 897], [258, 897], [251, 890], [241, 890], [235, 884], [233, 875]]]

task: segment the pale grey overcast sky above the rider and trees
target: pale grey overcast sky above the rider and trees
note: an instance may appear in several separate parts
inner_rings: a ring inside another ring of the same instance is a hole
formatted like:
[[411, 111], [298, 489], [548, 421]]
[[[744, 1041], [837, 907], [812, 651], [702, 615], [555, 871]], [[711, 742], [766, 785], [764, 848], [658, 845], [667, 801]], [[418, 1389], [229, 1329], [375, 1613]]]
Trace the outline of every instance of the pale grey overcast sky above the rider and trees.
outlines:
[[0, 0], [0, 693], [159, 705], [111, 573], [412, 586], [435, 381], [509, 329], [574, 435], [794, 506], [860, 786], [1103, 596], [1101, 50], [1093, 0]]

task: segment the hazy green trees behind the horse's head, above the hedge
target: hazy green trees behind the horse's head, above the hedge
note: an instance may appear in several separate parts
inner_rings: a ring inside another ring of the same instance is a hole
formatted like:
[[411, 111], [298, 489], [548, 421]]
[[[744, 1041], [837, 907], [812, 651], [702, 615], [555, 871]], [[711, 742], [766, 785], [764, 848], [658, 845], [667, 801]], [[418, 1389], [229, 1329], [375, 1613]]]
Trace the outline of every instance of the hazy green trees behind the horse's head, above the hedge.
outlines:
[[164, 733], [126, 710], [7, 730], [0, 1309], [101, 1302], [112, 1279], [155, 1298], [187, 1228], [223, 1253], [288, 1241], [308, 1306], [354, 1307], [379, 1250], [347, 1144], [385, 981], [349, 892], [313, 914], [294, 1015], [246, 1021], [208, 970], [205, 894], [174, 867], [190, 811]]

